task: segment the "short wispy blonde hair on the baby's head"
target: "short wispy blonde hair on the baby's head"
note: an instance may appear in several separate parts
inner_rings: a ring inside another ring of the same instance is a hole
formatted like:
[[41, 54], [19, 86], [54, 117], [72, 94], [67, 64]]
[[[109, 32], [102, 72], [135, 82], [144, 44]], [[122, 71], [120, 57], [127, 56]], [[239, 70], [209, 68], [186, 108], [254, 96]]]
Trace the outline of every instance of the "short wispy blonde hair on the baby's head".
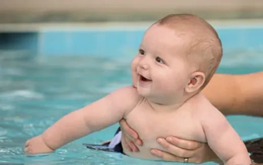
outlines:
[[200, 90], [209, 82], [216, 71], [222, 55], [222, 43], [215, 29], [204, 19], [192, 14], [170, 14], [155, 24], [174, 29], [179, 36], [190, 37], [185, 43], [187, 60], [197, 65], [205, 74]]

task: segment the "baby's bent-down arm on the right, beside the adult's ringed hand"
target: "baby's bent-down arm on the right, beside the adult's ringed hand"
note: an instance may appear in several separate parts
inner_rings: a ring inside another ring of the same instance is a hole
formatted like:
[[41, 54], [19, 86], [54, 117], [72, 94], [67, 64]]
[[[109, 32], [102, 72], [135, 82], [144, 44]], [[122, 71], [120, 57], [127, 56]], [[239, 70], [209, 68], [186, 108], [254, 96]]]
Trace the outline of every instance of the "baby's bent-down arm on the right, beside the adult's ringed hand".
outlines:
[[213, 107], [201, 115], [207, 143], [225, 164], [251, 164], [244, 143], [220, 111]]

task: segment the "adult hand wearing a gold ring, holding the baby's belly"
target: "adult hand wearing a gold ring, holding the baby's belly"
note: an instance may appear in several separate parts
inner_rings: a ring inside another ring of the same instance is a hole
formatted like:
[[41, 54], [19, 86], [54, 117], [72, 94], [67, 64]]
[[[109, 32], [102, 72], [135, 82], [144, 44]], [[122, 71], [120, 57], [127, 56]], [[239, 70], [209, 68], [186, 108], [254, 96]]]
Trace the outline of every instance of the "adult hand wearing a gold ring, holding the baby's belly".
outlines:
[[187, 160], [192, 163], [202, 163], [205, 161], [222, 163], [207, 143], [184, 140], [173, 136], [158, 138], [157, 142], [166, 151], [151, 149], [151, 153], [166, 161], [184, 162]]

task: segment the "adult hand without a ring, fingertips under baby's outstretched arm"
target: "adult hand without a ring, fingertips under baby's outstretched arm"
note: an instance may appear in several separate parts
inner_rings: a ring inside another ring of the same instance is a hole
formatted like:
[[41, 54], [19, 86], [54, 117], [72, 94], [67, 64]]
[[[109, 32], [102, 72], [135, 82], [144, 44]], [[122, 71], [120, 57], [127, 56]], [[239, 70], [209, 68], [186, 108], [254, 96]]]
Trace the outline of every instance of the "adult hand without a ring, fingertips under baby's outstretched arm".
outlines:
[[139, 138], [138, 133], [130, 128], [125, 119], [119, 121], [122, 132], [121, 141], [125, 148], [129, 151], [138, 152], [139, 148], [135, 145], [143, 145], [143, 141]]

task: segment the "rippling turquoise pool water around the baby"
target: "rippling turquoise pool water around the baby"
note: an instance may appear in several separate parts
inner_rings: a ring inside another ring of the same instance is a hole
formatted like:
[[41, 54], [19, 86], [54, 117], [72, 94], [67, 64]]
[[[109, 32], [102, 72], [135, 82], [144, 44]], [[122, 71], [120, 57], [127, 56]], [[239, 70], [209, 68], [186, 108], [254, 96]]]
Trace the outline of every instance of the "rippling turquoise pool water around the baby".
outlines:
[[[241, 74], [263, 70], [262, 50], [263, 47], [227, 48], [217, 72]], [[23, 152], [27, 139], [42, 133], [63, 115], [130, 85], [132, 58], [133, 54], [125, 58], [36, 56], [0, 61], [0, 164], [183, 164], [142, 160], [89, 150], [82, 145], [112, 138], [117, 125], [51, 154], [32, 156]], [[263, 137], [263, 118], [234, 115], [228, 116], [228, 120], [243, 140]]]

